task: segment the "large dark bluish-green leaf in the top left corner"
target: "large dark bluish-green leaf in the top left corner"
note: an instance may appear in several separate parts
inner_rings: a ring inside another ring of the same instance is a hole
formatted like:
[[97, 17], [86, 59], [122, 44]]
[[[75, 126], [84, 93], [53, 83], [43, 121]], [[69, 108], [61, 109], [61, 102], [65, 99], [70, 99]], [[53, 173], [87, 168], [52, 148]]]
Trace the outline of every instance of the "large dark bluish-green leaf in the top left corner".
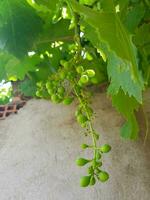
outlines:
[[25, 0], [1, 0], [0, 13], [1, 48], [17, 57], [27, 55], [42, 30], [42, 20]]

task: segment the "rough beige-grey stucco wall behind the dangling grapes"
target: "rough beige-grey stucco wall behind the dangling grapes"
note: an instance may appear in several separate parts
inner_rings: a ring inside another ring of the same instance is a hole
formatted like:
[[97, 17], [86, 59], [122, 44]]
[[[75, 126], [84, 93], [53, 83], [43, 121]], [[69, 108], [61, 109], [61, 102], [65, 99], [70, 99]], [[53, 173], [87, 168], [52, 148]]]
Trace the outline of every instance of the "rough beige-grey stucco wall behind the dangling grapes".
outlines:
[[106, 96], [94, 101], [100, 142], [112, 146], [104, 158], [110, 180], [79, 187], [86, 170], [74, 160], [90, 153], [79, 148], [89, 139], [75, 121], [75, 106], [31, 100], [18, 115], [0, 121], [0, 200], [150, 199], [150, 145], [121, 139], [122, 119]]

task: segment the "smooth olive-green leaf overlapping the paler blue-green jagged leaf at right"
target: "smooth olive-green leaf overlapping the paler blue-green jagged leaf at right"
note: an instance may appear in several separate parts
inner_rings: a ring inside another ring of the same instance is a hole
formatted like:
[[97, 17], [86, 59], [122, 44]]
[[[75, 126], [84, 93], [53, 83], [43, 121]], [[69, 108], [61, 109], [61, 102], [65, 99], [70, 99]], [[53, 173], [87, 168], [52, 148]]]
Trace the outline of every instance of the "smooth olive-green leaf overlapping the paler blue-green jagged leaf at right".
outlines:
[[[112, 1], [110, 0], [110, 2]], [[80, 5], [74, 0], [71, 0], [71, 5], [95, 29], [99, 43], [106, 43], [107, 51], [114, 51], [118, 57], [128, 61], [132, 69], [132, 78], [135, 81], [140, 81], [137, 72], [138, 64], [135, 47], [132, 43], [131, 36], [121, 23], [118, 15], [115, 12], [94, 11]]]

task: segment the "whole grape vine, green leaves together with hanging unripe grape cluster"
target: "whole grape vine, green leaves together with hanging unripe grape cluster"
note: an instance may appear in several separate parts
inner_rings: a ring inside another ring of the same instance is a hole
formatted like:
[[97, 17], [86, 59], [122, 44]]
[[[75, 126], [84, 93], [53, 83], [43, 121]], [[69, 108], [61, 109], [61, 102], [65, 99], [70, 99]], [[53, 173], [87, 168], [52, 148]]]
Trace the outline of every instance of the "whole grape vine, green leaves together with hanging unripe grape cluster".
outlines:
[[[125, 120], [121, 136], [137, 139], [135, 113], [150, 86], [148, 1], [7, 0], [0, 2], [0, 13], [0, 82], [19, 80], [25, 96], [54, 103], [77, 100], [76, 120], [91, 137], [81, 148], [93, 151], [92, 158], [76, 160], [78, 166], [88, 165], [80, 185], [107, 181], [102, 156], [111, 147], [98, 145], [89, 88], [108, 85], [112, 105]], [[1, 94], [0, 102], [9, 101], [11, 90], [7, 96]]]

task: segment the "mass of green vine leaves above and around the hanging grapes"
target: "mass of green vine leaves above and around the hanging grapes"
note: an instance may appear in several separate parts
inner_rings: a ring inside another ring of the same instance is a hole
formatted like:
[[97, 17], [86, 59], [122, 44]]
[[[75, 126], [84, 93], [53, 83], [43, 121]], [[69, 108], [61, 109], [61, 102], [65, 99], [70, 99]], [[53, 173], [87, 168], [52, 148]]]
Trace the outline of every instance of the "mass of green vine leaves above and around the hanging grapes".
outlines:
[[36, 84], [76, 50], [72, 11], [79, 17], [80, 64], [96, 71], [92, 84], [109, 84], [112, 104], [126, 120], [121, 135], [137, 138], [135, 111], [150, 85], [147, 0], [1, 0], [0, 81], [22, 80], [22, 93], [35, 96]]

